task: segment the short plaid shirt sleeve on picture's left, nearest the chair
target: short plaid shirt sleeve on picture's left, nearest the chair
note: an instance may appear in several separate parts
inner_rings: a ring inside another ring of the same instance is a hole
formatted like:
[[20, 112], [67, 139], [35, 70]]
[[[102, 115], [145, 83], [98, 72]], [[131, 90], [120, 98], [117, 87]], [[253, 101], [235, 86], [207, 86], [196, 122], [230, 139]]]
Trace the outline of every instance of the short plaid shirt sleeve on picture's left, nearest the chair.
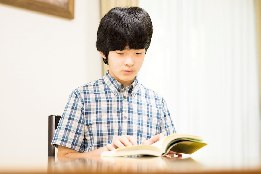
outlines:
[[52, 145], [62, 145], [83, 151], [84, 144], [84, 107], [76, 92], [72, 92], [64, 113], [58, 123]]

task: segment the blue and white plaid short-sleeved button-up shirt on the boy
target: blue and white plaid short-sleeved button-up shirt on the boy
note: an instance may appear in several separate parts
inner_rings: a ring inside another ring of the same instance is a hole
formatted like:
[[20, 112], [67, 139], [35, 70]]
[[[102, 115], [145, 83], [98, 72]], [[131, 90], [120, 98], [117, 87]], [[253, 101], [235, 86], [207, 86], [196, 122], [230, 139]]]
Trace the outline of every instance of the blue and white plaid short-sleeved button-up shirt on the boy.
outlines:
[[52, 144], [87, 152], [119, 135], [131, 135], [141, 144], [159, 133], [176, 133], [164, 98], [137, 76], [125, 87], [107, 72], [71, 93]]

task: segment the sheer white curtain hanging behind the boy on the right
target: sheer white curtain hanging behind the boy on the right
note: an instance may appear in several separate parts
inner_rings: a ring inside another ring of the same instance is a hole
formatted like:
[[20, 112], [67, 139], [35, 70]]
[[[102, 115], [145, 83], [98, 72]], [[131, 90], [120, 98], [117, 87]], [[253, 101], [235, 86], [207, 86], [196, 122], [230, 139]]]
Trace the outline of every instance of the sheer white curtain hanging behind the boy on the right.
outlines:
[[139, 6], [154, 25], [139, 79], [167, 100], [177, 132], [209, 143], [200, 156], [259, 157], [254, 1], [139, 0]]

